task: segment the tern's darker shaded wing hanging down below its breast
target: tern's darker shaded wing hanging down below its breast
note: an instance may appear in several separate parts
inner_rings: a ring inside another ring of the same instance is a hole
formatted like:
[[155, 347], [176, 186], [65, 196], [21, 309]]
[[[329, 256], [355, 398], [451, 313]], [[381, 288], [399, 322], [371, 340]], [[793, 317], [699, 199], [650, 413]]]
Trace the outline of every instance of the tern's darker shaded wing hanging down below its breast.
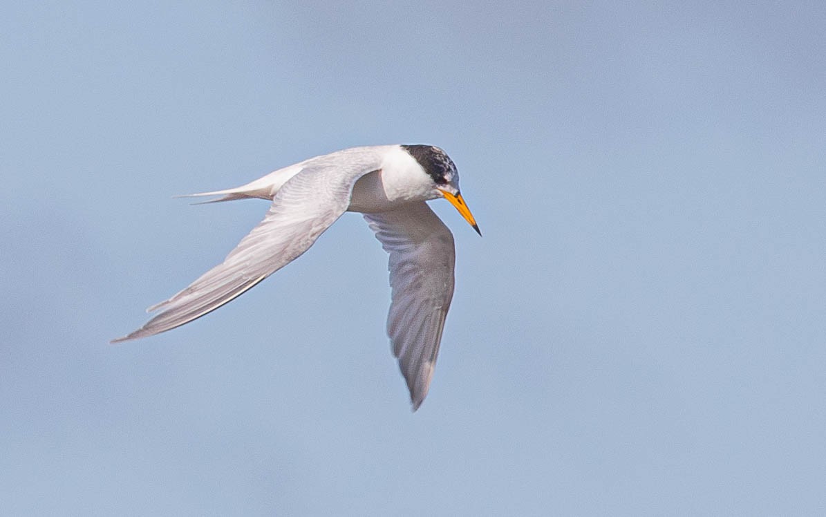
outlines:
[[390, 254], [387, 335], [417, 410], [430, 387], [453, 298], [453, 235], [425, 202], [365, 214], [364, 219]]

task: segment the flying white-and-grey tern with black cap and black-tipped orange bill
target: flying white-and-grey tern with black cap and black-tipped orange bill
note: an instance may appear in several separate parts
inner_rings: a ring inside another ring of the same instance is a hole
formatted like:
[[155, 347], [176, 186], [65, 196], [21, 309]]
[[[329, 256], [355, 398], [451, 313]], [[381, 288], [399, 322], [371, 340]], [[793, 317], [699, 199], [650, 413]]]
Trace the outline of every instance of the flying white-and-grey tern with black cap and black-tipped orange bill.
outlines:
[[453, 234], [427, 201], [444, 197], [479, 226], [459, 192], [459, 175], [432, 145], [343, 149], [278, 169], [241, 187], [189, 194], [207, 202], [263, 198], [267, 216], [226, 256], [169, 300], [140, 329], [112, 343], [159, 334], [215, 311], [297, 259], [345, 211], [360, 212], [390, 255], [387, 335], [413, 410], [427, 396], [453, 298]]

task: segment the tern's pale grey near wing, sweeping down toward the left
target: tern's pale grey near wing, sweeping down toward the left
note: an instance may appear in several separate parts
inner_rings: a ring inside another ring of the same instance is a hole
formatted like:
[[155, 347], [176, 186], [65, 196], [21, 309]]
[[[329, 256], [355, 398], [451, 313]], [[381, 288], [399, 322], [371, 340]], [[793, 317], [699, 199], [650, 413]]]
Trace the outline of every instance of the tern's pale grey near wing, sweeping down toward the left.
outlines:
[[267, 216], [223, 263], [169, 300], [151, 306], [148, 311], [161, 312], [112, 342], [159, 334], [200, 318], [297, 259], [347, 210], [354, 183], [378, 164], [373, 154], [308, 162], [281, 187]]

